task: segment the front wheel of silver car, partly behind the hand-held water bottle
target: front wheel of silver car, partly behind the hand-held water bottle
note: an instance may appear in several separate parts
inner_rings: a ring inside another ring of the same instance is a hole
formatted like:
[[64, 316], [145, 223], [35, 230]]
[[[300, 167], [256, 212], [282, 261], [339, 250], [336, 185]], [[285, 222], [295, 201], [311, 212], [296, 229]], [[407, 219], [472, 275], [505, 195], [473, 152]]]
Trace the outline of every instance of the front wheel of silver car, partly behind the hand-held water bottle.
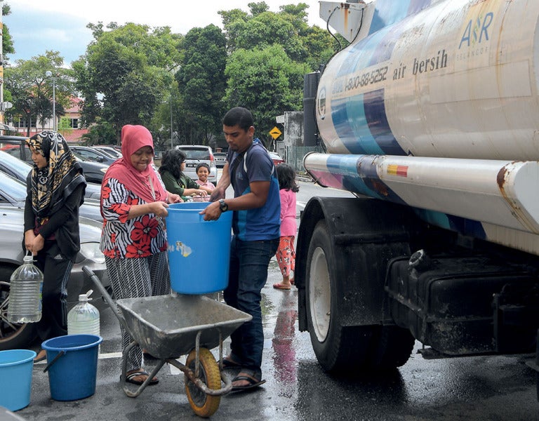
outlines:
[[0, 351], [27, 348], [36, 338], [35, 323], [11, 323], [7, 319], [9, 279], [13, 266], [0, 266]]

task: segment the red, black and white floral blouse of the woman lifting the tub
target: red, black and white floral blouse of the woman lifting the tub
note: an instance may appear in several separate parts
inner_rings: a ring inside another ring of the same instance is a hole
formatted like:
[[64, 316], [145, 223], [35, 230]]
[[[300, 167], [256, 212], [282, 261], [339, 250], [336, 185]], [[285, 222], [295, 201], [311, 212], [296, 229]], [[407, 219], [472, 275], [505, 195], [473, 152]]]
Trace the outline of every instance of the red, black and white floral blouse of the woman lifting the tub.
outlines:
[[166, 250], [166, 232], [154, 213], [128, 220], [133, 205], [147, 203], [109, 178], [102, 187], [104, 216], [100, 249], [109, 258], [146, 258]]

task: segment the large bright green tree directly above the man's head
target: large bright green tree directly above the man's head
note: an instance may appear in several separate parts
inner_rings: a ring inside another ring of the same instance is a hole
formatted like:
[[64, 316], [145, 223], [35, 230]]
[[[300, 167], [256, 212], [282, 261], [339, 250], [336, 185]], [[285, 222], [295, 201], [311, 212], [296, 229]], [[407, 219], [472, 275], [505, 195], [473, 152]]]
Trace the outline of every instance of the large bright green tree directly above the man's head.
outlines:
[[[249, 3], [250, 13], [220, 11], [228, 40], [225, 102], [251, 109], [257, 133], [268, 133], [275, 117], [302, 109], [304, 75], [333, 55], [331, 34], [307, 24], [307, 4], [270, 12], [264, 1]], [[263, 133], [263, 135], [262, 135]]]

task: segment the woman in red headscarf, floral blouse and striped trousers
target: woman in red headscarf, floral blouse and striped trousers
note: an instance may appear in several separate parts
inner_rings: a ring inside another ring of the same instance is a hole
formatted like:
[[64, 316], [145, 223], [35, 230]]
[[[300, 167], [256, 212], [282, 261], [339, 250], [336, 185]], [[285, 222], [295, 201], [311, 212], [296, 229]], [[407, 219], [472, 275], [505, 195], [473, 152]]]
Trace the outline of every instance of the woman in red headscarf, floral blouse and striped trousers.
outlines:
[[[101, 250], [114, 297], [168, 294], [164, 217], [168, 203], [181, 201], [180, 196], [168, 193], [161, 183], [152, 163], [154, 142], [147, 128], [129, 124], [121, 128], [121, 154], [109, 166], [101, 187]], [[121, 333], [124, 351], [131, 337], [124, 328]], [[142, 385], [148, 377], [142, 370], [142, 349], [133, 347], [127, 359], [126, 382]], [[154, 378], [149, 384], [157, 382]]]

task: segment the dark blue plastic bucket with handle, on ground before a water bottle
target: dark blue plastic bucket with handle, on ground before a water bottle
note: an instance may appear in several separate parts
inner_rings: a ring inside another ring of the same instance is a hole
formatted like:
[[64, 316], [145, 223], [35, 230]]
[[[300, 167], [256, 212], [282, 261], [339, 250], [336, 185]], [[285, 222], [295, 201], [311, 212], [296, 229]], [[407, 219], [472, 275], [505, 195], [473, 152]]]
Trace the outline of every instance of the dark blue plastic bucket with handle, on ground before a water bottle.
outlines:
[[95, 393], [98, 335], [65, 335], [41, 344], [47, 352], [48, 385], [55, 401], [76, 401]]

